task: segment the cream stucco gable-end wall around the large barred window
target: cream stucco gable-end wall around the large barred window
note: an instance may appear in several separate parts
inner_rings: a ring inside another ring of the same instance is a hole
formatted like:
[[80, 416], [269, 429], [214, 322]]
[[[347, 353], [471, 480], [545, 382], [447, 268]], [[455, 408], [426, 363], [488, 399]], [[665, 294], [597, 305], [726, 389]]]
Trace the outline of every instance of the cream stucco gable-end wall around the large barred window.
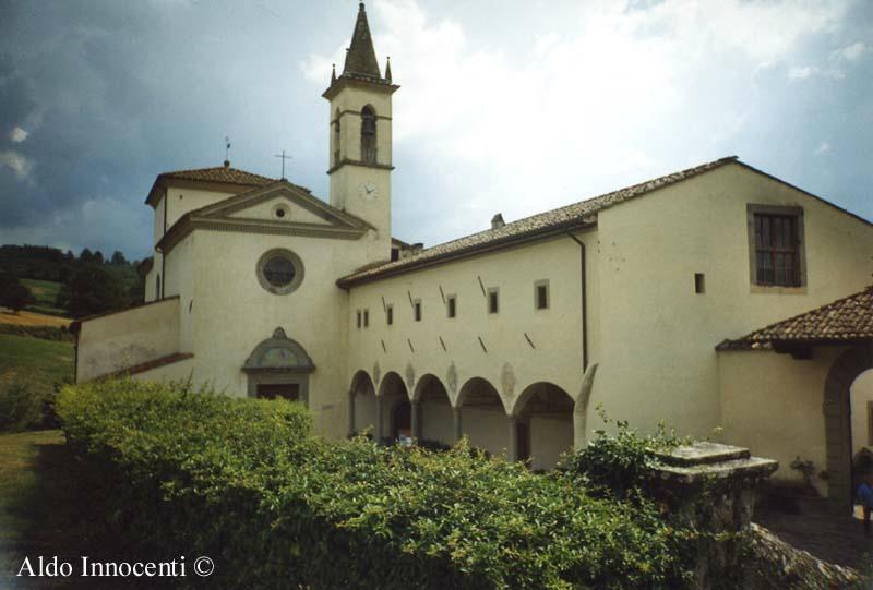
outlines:
[[[804, 288], [750, 285], [749, 203], [803, 208]], [[598, 230], [591, 407], [647, 430], [663, 419], [710, 434], [726, 410], [714, 347], [859, 291], [873, 270], [870, 225], [740, 165], [601, 212]], [[706, 276], [704, 294], [695, 273]], [[600, 425], [589, 418], [589, 432]]]

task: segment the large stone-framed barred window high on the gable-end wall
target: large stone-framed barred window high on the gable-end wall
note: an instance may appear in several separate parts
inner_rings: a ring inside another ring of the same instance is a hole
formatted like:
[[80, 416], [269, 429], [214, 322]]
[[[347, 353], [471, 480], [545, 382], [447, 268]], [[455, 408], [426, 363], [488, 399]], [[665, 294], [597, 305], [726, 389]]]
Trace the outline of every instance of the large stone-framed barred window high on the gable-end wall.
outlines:
[[752, 280], [768, 287], [801, 287], [803, 209], [749, 205]]

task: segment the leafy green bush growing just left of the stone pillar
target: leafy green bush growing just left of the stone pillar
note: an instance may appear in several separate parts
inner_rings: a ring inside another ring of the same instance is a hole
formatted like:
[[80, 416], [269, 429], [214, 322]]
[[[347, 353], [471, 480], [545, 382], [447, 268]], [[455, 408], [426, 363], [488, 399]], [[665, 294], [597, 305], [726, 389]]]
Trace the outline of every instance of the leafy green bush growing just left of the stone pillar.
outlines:
[[655, 434], [642, 435], [625, 421], [610, 420], [602, 408], [598, 407], [597, 412], [603, 422], [614, 424], [615, 433], [596, 431], [588, 446], [570, 457], [567, 472], [619, 498], [646, 483], [651, 470], [660, 465], [657, 453], [690, 442], [668, 432], [663, 423], [658, 424]]

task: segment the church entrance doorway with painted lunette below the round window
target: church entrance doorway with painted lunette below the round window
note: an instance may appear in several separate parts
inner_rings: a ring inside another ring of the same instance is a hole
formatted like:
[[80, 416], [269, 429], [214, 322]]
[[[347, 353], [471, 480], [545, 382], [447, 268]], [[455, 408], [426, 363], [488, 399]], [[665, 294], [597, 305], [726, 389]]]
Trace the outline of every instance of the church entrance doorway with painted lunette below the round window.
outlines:
[[246, 359], [242, 372], [249, 376], [249, 397], [285, 398], [309, 405], [309, 375], [315, 371], [312, 359], [285, 330], [259, 344]]

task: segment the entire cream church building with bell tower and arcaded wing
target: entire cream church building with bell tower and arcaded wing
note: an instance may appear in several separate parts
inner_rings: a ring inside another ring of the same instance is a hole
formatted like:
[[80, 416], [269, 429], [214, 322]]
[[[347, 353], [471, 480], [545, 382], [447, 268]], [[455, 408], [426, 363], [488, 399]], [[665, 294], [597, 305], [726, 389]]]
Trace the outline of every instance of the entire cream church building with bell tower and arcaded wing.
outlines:
[[327, 198], [228, 161], [158, 174], [146, 303], [74, 323], [77, 381], [190, 378], [299, 400], [328, 436], [466, 435], [534, 469], [584, 445], [602, 406], [750, 446], [777, 478], [812, 460], [848, 498], [868, 220], [726, 157], [408, 244], [392, 236], [398, 89], [361, 3], [322, 94]]

